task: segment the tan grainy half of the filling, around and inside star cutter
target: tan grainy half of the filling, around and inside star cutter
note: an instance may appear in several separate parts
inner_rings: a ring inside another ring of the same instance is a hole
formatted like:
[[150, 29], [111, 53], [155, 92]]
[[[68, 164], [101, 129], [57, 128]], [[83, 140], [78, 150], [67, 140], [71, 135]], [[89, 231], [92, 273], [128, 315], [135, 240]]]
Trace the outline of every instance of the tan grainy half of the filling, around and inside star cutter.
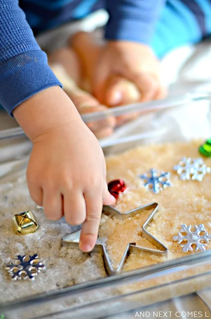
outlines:
[[[173, 236], [180, 231], [182, 224], [192, 226], [204, 224], [208, 233], [211, 234], [211, 173], [200, 182], [181, 180], [173, 169], [183, 157], [203, 158], [205, 163], [211, 166], [211, 158], [205, 158], [199, 153], [200, 144], [202, 144], [201, 141], [193, 141], [141, 146], [124, 154], [107, 158], [107, 180], [120, 177], [127, 185], [125, 192], [119, 194], [115, 208], [126, 212], [141, 205], [157, 202], [159, 211], [147, 230], [169, 249], [168, 256], [144, 252], [132, 254], [127, 258], [125, 271], [190, 254], [191, 252], [184, 253], [180, 245], [172, 240]], [[143, 180], [139, 177], [152, 167], [171, 173], [171, 187], [163, 189], [158, 194], [143, 187]], [[114, 264], [118, 264], [128, 242], [156, 248], [140, 235], [141, 225], [149, 213], [146, 211], [123, 221], [106, 217], [100, 228], [100, 236], [107, 236], [107, 250]], [[211, 242], [207, 249], [210, 248]]]

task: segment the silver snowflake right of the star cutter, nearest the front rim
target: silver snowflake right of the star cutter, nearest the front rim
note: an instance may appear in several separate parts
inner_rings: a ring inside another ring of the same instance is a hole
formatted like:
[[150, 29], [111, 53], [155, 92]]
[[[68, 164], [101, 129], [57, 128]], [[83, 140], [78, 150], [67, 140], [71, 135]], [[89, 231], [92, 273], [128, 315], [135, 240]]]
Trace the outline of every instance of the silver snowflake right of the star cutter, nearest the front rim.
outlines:
[[[195, 231], [191, 231], [191, 225], [187, 226], [182, 224], [182, 229], [177, 236], [173, 237], [174, 241], [177, 241], [178, 244], [183, 247], [183, 252], [187, 253], [188, 251], [205, 251], [211, 235], [208, 235], [208, 232], [205, 230], [205, 226], [200, 224], [199, 226], [194, 226]], [[195, 246], [193, 248], [193, 246]]]

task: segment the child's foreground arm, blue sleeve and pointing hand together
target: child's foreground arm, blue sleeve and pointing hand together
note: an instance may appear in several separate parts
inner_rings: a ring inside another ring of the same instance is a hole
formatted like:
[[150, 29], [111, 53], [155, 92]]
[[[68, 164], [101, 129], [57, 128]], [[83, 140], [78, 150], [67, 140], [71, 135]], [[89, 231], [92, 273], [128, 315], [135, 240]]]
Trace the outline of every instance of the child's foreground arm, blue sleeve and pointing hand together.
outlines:
[[102, 149], [59, 85], [17, 0], [0, 0], [0, 103], [33, 144], [31, 197], [50, 219], [64, 214], [72, 225], [83, 223], [80, 247], [90, 251], [102, 205], [115, 199], [107, 190]]

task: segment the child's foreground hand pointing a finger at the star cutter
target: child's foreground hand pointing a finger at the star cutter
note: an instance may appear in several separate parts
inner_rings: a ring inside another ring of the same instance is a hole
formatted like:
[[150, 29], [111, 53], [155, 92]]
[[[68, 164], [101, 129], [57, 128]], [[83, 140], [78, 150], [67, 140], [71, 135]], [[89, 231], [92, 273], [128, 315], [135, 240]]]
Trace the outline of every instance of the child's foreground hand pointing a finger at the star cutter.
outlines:
[[71, 225], [83, 223], [80, 248], [91, 251], [102, 206], [115, 202], [97, 139], [59, 87], [36, 94], [13, 114], [33, 143], [27, 168], [32, 199], [49, 219], [65, 215]]

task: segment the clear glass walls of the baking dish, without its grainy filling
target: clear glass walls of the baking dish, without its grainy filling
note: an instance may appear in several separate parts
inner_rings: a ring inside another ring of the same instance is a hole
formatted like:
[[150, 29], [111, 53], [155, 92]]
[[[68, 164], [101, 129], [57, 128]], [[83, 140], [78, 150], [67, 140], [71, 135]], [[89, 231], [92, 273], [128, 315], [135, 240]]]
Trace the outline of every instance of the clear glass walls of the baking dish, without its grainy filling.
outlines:
[[[133, 120], [100, 140], [106, 156], [140, 144], [211, 137], [209, 93], [114, 108], [83, 119], [89, 125], [131, 114], [136, 114]], [[20, 128], [1, 130], [0, 183], [25, 171], [30, 150]], [[30, 297], [29, 292], [27, 299], [0, 305], [0, 313], [5, 319], [135, 318], [147, 305], [205, 288], [211, 288], [211, 250], [42, 295]]]

